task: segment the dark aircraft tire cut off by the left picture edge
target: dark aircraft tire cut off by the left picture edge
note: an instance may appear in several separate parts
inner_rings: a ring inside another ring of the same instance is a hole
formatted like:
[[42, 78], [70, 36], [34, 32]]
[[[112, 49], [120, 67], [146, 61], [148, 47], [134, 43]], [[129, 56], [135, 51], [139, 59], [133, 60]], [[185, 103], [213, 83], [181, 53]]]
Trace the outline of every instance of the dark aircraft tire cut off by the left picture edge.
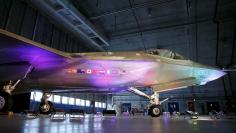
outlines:
[[4, 91], [0, 91], [0, 112], [9, 111], [13, 105], [12, 96]]

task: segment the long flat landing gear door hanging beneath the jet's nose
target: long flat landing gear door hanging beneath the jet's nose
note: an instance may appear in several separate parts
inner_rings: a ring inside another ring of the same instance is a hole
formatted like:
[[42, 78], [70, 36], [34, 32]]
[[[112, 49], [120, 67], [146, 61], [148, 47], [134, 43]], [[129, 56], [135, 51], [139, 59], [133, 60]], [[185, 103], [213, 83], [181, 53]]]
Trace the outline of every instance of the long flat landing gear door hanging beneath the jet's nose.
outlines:
[[188, 86], [193, 86], [197, 84], [197, 80], [194, 77], [184, 78], [180, 80], [175, 80], [167, 83], [162, 83], [158, 85], [152, 86], [154, 91], [157, 92], [164, 92], [169, 90], [181, 89], [186, 88]]

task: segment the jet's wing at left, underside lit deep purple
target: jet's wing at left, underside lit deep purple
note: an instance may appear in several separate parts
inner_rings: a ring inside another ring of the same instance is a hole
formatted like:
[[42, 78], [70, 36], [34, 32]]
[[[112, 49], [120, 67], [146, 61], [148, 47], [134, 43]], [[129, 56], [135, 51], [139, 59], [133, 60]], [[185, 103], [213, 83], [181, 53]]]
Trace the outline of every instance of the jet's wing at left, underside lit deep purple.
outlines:
[[0, 29], [0, 81], [22, 79], [29, 66], [43, 72], [71, 62], [69, 53]]

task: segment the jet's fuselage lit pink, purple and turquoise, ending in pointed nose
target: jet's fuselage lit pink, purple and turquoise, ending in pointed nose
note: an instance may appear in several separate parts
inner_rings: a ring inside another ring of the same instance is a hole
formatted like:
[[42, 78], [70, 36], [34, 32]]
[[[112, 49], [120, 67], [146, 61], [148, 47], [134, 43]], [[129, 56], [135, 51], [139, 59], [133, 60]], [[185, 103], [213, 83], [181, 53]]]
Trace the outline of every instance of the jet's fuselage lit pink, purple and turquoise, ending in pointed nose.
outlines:
[[[84, 63], [60, 69], [28, 83], [38, 86], [122, 88], [146, 87], [195, 78], [203, 84], [224, 75], [216, 68], [190, 60], [176, 60], [145, 52], [82, 53]], [[75, 57], [75, 60], [81, 60]], [[32, 75], [37, 75], [37, 71]], [[34, 77], [34, 76], [33, 76]]]

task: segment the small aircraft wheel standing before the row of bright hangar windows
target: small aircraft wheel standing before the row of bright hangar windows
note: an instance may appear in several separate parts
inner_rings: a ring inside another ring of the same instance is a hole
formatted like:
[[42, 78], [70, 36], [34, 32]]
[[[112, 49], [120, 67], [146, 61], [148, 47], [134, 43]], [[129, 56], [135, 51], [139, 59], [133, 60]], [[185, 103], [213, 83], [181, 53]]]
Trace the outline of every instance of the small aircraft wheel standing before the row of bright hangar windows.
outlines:
[[[45, 108], [46, 107], [46, 108]], [[51, 114], [54, 112], [54, 107], [53, 107], [53, 103], [48, 101], [47, 103], [45, 102], [41, 102], [39, 105], [39, 113], [40, 114]]]

